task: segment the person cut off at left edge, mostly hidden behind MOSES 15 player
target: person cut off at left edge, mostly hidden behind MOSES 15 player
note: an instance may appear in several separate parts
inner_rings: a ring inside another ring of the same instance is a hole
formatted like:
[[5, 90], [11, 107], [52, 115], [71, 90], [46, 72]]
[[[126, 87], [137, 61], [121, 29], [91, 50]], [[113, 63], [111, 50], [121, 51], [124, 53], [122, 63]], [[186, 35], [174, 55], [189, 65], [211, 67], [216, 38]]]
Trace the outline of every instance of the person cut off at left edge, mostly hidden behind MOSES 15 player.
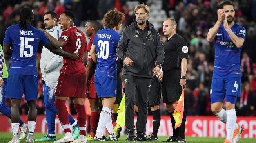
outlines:
[[[5, 98], [5, 89], [6, 89], [6, 84], [7, 84], [7, 78], [8, 78], [8, 71], [6, 68], [6, 64], [4, 61], [4, 52], [2, 49], [2, 46], [0, 45], [0, 50], [1, 50], [1, 57], [0, 57], [0, 112], [3, 113], [5, 116], [8, 118], [11, 118], [11, 109], [7, 107], [6, 105], [6, 98]], [[20, 119], [20, 139], [25, 139], [27, 136], [27, 124], [25, 124], [21, 119]]]

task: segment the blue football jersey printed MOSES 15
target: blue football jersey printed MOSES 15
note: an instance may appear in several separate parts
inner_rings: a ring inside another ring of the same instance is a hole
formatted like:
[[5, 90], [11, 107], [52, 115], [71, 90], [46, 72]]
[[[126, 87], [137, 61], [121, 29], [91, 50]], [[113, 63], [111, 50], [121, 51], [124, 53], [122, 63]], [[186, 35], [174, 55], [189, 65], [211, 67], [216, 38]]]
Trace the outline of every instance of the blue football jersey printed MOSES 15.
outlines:
[[49, 44], [45, 34], [28, 25], [27, 31], [19, 25], [12, 25], [5, 32], [4, 44], [11, 44], [13, 50], [9, 75], [34, 75], [37, 77], [36, 52], [38, 43]]

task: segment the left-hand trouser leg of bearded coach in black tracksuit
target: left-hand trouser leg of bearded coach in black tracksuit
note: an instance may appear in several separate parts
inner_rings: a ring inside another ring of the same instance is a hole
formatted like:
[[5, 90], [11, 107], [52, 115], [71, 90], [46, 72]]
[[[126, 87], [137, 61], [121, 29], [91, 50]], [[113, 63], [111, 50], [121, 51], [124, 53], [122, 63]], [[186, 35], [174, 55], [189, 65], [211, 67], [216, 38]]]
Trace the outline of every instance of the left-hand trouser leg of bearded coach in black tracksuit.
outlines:
[[134, 141], [134, 102], [136, 94], [136, 77], [123, 75], [125, 88], [125, 126], [127, 129], [126, 141]]

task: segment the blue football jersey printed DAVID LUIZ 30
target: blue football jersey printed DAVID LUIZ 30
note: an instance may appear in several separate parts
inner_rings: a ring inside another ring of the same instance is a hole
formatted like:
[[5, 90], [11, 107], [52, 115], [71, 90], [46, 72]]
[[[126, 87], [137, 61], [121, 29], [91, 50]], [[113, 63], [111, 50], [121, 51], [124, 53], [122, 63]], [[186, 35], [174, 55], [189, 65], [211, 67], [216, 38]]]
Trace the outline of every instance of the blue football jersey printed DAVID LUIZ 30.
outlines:
[[96, 46], [97, 65], [95, 76], [117, 79], [116, 47], [121, 35], [113, 29], [102, 29], [93, 40]]

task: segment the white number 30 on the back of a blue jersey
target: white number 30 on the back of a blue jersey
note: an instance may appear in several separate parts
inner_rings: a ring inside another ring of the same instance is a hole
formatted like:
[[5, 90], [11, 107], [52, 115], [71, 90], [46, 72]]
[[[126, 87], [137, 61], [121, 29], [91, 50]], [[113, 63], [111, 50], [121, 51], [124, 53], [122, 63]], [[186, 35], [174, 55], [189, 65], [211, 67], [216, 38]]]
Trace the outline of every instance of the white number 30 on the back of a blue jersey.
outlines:
[[109, 58], [109, 42], [108, 41], [98, 41], [98, 46], [100, 46], [100, 52], [97, 53], [98, 58], [107, 59]]

